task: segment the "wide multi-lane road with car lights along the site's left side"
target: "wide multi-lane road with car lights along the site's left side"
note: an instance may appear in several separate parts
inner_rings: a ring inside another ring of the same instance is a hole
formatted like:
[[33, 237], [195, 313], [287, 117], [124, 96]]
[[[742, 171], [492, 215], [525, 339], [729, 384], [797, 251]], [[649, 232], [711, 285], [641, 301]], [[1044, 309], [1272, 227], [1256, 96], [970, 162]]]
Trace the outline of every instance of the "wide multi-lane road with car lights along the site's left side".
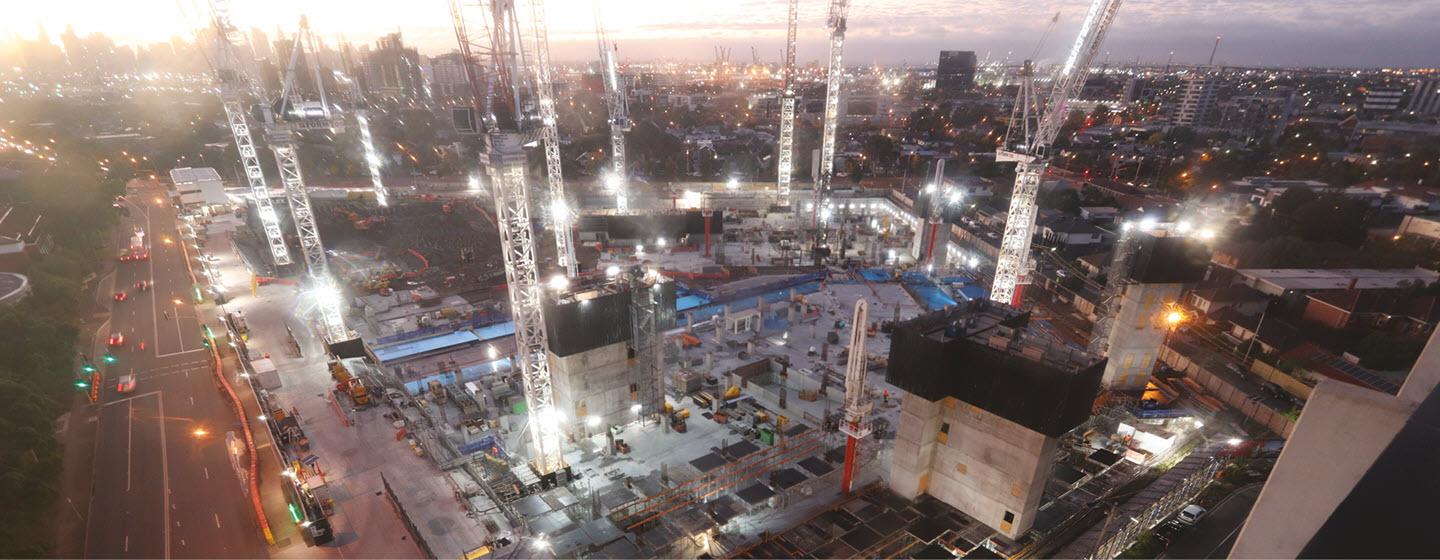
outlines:
[[[265, 557], [226, 451], [226, 432], [239, 425], [210, 373], [176, 209], [157, 183], [132, 186], [140, 189], [127, 197], [130, 217], [117, 238], [124, 248], [132, 227], [143, 227], [150, 259], [117, 263], [96, 289], [111, 315], [94, 333], [95, 353], [109, 350], [117, 361], [104, 367], [94, 419], [85, 556]], [[141, 281], [153, 288], [137, 289]], [[128, 299], [114, 301], [118, 291]], [[107, 348], [111, 333], [124, 334], [125, 344]], [[115, 380], [124, 374], [138, 383], [122, 394]]]

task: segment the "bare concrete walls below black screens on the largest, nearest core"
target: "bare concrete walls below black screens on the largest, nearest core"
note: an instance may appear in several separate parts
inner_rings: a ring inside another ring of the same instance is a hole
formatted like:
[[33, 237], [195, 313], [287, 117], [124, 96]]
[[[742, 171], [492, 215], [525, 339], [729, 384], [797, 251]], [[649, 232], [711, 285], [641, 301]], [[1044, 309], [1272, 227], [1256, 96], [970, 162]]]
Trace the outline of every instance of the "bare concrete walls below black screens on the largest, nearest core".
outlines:
[[930, 494], [1017, 538], [1035, 523], [1058, 439], [978, 406], [901, 396], [890, 485]]

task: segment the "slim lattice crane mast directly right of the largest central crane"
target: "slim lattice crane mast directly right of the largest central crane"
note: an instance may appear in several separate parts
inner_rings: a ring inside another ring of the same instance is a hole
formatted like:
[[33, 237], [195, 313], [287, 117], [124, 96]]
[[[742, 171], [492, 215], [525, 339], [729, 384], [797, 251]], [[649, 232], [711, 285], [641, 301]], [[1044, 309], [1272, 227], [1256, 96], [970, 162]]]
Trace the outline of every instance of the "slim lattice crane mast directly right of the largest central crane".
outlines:
[[554, 233], [556, 259], [564, 275], [579, 272], [575, 243], [570, 239], [570, 207], [564, 202], [564, 176], [560, 173], [560, 131], [554, 108], [554, 81], [550, 69], [550, 33], [546, 29], [544, 1], [530, 1], [530, 27], [534, 35], [534, 81], [540, 109], [540, 143], [544, 148], [546, 184], [550, 187], [550, 232]]

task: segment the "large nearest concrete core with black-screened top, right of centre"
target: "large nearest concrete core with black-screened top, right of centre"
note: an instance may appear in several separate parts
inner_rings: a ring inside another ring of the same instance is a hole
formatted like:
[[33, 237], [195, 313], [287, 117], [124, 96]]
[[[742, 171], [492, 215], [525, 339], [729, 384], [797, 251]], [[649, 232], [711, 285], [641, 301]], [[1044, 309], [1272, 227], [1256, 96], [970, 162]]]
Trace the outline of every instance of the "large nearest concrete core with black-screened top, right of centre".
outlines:
[[1040, 514], [1060, 438], [1090, 417], [1104, 360], [1028, 331], [978, 299], [896, 325], [900, 389], [890, 488], [929, 494], [1008, 538]]

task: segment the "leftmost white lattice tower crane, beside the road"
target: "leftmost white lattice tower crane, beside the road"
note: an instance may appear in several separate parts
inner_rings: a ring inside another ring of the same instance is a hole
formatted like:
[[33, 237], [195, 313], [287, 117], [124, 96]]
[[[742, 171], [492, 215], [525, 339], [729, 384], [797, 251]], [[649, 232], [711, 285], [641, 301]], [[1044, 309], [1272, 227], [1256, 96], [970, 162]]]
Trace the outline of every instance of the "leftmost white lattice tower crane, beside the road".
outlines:
[[255, 140], [251, 137], [251, 125], [245, 119], [245, 91], [256, 91], [255, 82], [245, 72], [240, 58], [235, 50], [229, 12], [223, 0], [210, 1], [212, 24], [215, 27], [215, 81], [220, 88], [220, 104], [225, 108], [225, 119], [235, 138], [235, 148], [240, 153], [240, 166], [245, 167], [245, 179], [251, 186], [251, 197], [255, 199], [255, 213], [261, 219], [261, 229], [265, 230], [265, 240], [269, 243], [271, 259], [275, 266], [289, 265], [289, 248], [285, 246], [285, 235], [279, 227], [279, 216], [271, 200], [269, 186], [265, 183], [265, 168], [255, 153]]

